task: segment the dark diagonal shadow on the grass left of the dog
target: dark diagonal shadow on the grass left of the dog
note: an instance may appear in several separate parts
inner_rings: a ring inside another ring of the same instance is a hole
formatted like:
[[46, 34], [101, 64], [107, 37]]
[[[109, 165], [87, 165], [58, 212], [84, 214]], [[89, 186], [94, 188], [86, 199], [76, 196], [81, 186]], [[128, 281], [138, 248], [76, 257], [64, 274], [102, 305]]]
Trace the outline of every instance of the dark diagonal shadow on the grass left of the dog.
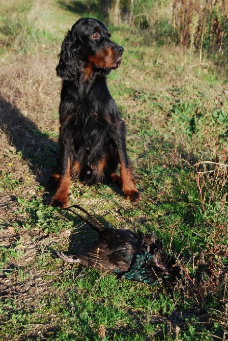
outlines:
[[27, 161], [36, 181], [49, 188], [49, 178], [58, 158], [58, 143], [20, 110], [0, 96], [0, 129]]

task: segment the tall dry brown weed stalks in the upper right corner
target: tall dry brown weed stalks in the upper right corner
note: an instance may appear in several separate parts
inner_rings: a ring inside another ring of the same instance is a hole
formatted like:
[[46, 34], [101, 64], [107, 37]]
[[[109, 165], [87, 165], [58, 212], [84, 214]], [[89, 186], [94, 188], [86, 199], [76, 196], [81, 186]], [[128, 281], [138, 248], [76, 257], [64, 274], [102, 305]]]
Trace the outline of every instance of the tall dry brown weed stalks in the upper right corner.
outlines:
[[200, 51], [226, 53], [228, 3], [223, 0], [179, 1], [173, 4], [177, 42]]

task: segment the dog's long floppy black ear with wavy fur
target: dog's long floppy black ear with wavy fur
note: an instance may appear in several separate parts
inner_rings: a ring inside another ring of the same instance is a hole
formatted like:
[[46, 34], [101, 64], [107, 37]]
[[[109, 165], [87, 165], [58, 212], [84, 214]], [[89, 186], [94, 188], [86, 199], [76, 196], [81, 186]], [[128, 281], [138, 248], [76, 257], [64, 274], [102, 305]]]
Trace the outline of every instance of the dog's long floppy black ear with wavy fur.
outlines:
[[56, 66], [56, 73], [64, 80], [73, 80], [78, 69], [78, 43], [72, 36], [72, 31], [68, 31], [65, 37], [61, 52], [59, 54], [59, 64]]

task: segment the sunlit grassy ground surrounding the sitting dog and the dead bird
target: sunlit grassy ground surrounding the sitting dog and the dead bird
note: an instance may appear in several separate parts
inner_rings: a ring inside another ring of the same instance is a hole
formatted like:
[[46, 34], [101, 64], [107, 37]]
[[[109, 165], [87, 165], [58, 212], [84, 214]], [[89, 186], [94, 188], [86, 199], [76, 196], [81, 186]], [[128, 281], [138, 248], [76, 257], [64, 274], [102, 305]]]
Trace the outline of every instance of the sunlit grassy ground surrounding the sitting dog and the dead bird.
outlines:
[[199, 74], [197, 56], [158, 41], [153, 27], [111, 27], [125, 50], [108, 87], [126, 122], [141, 201], [126, 201], [116, 184], [72, 182], [69, 205], [106, 226], [155, 233], [191, 280], [149, 287], [55, 257], [55, 249], [76, 252], [96, 238], [72, 213], [48, 206], [47, 186], [58, 148], [57, 55], [77, 18], [96, 16], [90, 4], [79, 13], [84, 3], [12, 1], [0, 14], [0, 338], [225, 339], [227, 77], [209, 60]]

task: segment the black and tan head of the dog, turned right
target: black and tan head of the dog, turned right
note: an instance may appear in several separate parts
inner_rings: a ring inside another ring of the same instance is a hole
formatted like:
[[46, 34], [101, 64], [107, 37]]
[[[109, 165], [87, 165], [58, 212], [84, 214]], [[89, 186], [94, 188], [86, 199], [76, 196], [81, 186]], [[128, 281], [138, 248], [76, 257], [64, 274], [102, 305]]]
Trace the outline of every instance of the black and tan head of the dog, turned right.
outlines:
[[109, 73], [122, 62], [123, 47], [110, 40], [105, 25], [93, 18], [80, 18], [65, 37], [60, 52], [57, 75], [75, 79], [78, 72], [90, 79], [94, 72]]

